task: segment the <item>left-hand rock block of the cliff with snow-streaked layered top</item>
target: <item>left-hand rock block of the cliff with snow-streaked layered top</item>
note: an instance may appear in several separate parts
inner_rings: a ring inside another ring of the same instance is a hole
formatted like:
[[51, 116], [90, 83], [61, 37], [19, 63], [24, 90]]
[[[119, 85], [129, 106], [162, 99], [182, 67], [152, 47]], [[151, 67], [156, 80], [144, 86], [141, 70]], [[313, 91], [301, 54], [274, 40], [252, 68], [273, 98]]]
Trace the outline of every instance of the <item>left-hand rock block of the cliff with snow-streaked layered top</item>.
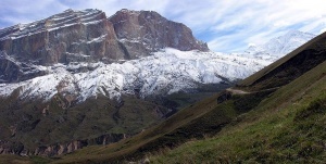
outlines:
[[99, 10], [67, 10], [4, 28], [0, 38], [0, 50], [37, 65], [124, 59], [112, 23]]

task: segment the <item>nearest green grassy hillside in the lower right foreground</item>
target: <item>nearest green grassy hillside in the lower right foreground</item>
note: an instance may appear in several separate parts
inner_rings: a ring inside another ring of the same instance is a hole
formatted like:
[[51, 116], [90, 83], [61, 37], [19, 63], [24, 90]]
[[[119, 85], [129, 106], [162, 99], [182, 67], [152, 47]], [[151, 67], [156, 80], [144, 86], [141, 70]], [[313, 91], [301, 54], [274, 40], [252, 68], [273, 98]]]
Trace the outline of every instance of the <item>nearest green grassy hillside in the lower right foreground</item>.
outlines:
[[152, 156], [153, 163], [324, 163], [326, 62], [271, 94], [218, 135]]

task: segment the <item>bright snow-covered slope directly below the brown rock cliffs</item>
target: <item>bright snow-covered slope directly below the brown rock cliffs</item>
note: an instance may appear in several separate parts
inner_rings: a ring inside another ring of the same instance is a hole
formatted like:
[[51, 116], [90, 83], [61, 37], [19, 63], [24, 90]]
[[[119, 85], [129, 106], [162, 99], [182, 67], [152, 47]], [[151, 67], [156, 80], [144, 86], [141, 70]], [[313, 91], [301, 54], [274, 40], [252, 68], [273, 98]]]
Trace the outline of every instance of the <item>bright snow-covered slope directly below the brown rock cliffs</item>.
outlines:
[[[193, 89], [198, 84], [218, 84], [246, 78], [263, 66], [264, 60], [248, 59], [217, 52], [179, 51], [166, 48], [151, 56], [122, 64], [75, 63], [49, 66], [48, 75], [17, 84], [0, 84], [0, 94], [10, 96], [18, 89], [20, 97], [48, 101], [57, 93], [68, 93], [85, 101], [103, 94], [120, 99], [122, 94], [147, 97]], [[79, 67], [92, 71], [76, 72]]]

